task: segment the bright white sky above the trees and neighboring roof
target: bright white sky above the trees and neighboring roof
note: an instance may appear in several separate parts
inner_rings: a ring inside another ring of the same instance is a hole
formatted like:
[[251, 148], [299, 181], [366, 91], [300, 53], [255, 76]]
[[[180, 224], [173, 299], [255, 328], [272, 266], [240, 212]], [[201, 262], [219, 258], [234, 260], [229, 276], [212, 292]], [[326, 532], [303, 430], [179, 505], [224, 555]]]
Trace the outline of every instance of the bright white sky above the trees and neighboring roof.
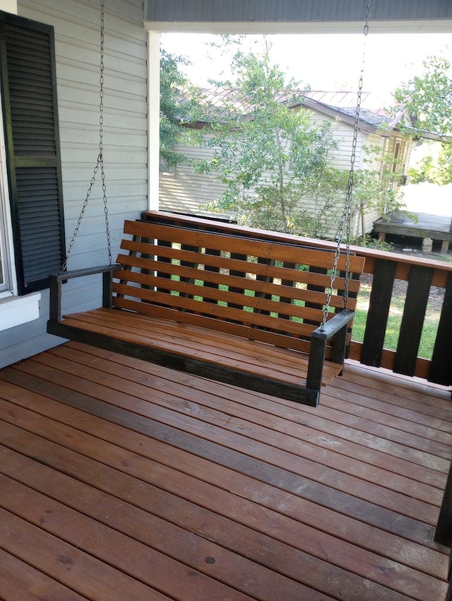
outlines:
[[[206, 42], [220, 36], [207, 34], [162, 34], [162, 47], [188, 57], [186, 74], [198, 86], [208, 78], [230, 76], [230, 56], [222, 56]], [[250, 47], [262, 47], [262, 36], [246, 36]], [[388, 33], [363, 34], [280, 34], [269, 35], [270, 57], [296, 81], [312, 90], [355, 91], [363, 66], [364, 91], [391, 98], [401, 83], [422, 74], [422, 61], [442, 55], [452, 63], [452, 34]]]

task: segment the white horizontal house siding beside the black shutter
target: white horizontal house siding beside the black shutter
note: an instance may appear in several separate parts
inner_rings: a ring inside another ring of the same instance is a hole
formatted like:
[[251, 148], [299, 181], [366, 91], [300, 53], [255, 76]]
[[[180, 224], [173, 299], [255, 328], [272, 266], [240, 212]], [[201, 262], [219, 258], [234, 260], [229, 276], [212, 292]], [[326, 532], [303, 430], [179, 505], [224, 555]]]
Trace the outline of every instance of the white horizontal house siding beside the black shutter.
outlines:
[[[112, 255], [124, 218], [148, 208], [147, 33], [142, 0], [109, 0], [105, 16], [104, 161]], [[81, 211], [99, 151], [100, 1], [18, 0], [18, 15], [55, 30], [66, 245]], [[90, 196], [69, 269], [108, 262], [100, 177]], [[0, 366], [62, 341], [46, 334], [49, 294], [42, 291], [40, 317], [0, 332]], [[100, 280], [64, 285], [66, 313], [100, 304]]]

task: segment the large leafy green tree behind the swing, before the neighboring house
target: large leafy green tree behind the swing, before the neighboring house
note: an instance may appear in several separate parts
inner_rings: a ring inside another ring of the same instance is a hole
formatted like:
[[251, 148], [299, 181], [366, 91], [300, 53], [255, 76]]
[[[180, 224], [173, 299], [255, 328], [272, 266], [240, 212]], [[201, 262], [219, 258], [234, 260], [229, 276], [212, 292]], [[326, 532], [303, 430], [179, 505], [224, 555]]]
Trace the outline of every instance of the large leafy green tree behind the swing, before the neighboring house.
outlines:
[[[226, 189], [210, 209], [234, 211], [239, 221], [302, 235], [325, 235], [326, 204], [316, 216], [300, 199], [319, 199], [334, 170], [328, 153], [335, 146], [331, 124], [316, 124], [302, 106], [295, 82], [263, 54], [237, 52], [236, 82], [224, 109], [213, 120], [208, 146], [213, 158], [198, 161], [200, 173], [215, 173]], [[333, 194], [328, 197], [331, 208]]]

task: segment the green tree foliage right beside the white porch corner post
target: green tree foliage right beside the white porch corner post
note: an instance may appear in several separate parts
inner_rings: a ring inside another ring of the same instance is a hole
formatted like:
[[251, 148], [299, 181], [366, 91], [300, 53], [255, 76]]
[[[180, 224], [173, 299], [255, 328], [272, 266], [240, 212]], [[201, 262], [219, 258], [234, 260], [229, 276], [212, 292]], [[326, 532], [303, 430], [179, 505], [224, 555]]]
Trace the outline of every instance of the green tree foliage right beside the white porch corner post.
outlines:
[[182, 73], [184, 64], [186, 58], [160, 50], [160, 159], [169, 166], [186, 162], [175, 147], [194, 139], [186, 125], [198, 118], [201, 91]]

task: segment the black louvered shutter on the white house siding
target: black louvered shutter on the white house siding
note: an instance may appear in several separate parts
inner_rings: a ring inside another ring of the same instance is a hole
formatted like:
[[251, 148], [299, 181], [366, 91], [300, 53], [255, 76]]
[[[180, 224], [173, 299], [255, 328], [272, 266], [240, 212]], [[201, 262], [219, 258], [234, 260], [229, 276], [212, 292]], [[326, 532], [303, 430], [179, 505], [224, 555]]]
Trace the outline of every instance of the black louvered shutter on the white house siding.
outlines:
[[8, 182], [19, 294], [48, 286], [65, 255], [54, 32], [0, 13]]

